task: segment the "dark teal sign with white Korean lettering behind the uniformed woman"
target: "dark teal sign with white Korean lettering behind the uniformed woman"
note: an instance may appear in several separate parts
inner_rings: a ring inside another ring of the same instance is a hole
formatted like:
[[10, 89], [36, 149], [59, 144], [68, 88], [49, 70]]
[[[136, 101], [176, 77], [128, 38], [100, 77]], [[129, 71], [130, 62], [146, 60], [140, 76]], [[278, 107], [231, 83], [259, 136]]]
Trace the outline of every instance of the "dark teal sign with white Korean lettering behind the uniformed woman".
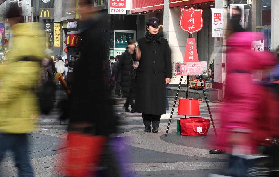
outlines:
[[115, 32], [114, 34], [114, 48], [128, 47], [128, 41], [134, 39], [134, 33]]

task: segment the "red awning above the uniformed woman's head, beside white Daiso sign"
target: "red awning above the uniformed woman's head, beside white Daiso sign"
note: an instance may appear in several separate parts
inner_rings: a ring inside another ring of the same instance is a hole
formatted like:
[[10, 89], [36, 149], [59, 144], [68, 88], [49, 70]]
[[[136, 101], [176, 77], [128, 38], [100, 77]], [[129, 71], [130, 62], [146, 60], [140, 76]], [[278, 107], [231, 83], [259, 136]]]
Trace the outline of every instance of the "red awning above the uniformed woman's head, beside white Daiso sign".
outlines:
[[164, 0], [132, 0], [132, 13], [164, 9]]

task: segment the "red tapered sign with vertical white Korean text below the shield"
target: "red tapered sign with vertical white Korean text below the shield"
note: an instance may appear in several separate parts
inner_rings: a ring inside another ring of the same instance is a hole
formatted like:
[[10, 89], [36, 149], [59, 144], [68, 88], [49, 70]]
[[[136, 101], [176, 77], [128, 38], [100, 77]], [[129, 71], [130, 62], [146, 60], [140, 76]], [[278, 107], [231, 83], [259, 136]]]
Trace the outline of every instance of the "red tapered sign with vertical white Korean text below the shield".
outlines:
[[196, 41], [195, 38], [188, 38], [186, 49], [185, 49], [185, 55], [184, 55], [184, 62], [196, 62], [198, 61], [198, 52], [196, 47]]

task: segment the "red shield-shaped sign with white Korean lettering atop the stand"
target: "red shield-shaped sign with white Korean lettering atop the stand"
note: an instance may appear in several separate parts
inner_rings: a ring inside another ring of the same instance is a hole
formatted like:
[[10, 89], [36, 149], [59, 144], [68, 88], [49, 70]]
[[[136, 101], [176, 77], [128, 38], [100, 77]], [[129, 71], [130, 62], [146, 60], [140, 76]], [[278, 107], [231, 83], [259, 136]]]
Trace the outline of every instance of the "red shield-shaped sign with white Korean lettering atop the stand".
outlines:
[[203, 28], [203, 10], [193, 7], [189, 9], [181, 8], [180, 28], [190, 34], [201, 30]]

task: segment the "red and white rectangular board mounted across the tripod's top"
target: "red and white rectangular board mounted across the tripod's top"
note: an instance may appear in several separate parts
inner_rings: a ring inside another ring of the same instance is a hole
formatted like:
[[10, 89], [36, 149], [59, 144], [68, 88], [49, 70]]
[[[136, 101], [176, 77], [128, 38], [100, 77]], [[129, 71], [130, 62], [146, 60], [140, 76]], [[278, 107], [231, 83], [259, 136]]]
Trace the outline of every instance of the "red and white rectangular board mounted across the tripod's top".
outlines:
[[175, 64], [176, 76], [193, 76], [193, 75], [206, 75], [207, 74], [207, 62], [186, 62]]

